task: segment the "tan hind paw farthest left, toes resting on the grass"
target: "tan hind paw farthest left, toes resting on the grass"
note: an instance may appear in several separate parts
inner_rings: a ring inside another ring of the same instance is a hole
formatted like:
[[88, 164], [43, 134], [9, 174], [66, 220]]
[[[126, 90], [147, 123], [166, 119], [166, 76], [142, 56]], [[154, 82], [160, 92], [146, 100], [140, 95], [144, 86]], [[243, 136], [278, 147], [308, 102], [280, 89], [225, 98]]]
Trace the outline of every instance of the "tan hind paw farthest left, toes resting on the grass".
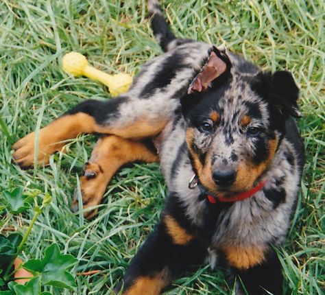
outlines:
[[[51, 134], [40, 130], [38, 141], [37, 163], [46, 165], [49, 163], [49, 156], [63, 147], [64, 143], [53, 143]], [[27, 169], [34, 166], [35, 158], [35, 132], [27, 134], [25, 137], [12, 145], [14, 162]]]

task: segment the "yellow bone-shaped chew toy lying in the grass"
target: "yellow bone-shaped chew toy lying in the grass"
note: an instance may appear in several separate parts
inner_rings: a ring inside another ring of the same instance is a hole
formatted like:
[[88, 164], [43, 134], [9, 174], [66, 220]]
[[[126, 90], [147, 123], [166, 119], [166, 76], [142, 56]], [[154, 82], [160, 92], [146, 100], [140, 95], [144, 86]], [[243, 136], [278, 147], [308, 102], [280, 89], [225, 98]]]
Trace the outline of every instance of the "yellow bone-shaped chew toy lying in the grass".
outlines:
[[118, 73], [116, 75], [108, 75], [103, 71], [99, 71], [94, 67], [88, 66], [88, 61], [85, 56], [71, 51], [62, 58], [62, 66], [64, 71], [80, 77], [82, 75], [99, 81], [110, 90], [112, 96], [117, 96], [128, 91], [132, 84], [132, 77], [126, 73]]

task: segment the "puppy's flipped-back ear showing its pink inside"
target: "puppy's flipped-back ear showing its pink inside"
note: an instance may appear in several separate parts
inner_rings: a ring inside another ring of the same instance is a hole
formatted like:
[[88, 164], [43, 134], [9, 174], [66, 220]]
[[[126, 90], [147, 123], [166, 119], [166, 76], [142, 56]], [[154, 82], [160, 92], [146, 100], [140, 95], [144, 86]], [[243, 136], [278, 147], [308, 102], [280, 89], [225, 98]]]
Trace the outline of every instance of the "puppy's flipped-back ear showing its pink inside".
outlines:
[[200, 73], [198, 73], [192, 80], [187, 93], [202, 92], [224, 73], [230, 71], [231, 62], [224, 45], [219, 47], [213, 46], [208, 52], [208, 60], [204, 62]]

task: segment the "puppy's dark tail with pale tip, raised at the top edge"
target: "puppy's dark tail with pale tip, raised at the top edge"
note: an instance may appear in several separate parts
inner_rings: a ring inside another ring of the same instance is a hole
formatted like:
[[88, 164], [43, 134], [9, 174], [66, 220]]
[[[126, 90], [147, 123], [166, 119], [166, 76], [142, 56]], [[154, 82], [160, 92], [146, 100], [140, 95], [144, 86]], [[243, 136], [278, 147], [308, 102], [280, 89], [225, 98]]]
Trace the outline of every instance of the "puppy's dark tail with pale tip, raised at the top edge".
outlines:
[[149, 16], [152, 18], [152, 30], [154, 31], [154, 36], [158, 40], [163, 51], [169, 51], [183, 43], [193, 42], [193, 40], [190, 39], [176, 38], [165, 21], [157, 0], [148, 0], [148, 10]]

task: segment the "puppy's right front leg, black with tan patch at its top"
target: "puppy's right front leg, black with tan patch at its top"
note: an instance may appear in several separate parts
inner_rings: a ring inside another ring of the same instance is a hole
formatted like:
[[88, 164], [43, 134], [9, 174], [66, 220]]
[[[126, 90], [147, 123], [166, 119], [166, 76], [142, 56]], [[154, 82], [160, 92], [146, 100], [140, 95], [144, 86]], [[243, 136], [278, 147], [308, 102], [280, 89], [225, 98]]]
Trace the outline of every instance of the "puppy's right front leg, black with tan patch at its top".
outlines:
[[236, 294], [282, 294], [280, 261], [268, 247], [230, 247], [226, 259], [237, 277]]

